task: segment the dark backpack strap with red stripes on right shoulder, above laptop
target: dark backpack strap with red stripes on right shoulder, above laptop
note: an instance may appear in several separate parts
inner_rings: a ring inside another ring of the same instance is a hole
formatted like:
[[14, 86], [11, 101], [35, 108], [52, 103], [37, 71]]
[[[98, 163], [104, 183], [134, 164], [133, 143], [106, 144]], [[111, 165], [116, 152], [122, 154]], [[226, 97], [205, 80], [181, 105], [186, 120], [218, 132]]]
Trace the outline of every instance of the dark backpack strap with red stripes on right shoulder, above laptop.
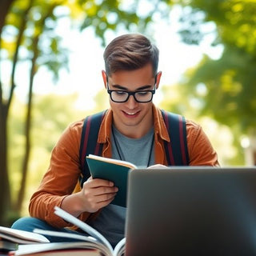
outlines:
[[168, 164], [170, 166], [188, 166], [186, 119], [182, 115], [165, 110], [162, 110], [162, 117], [170, 136], [170, 142], [164, 142]]

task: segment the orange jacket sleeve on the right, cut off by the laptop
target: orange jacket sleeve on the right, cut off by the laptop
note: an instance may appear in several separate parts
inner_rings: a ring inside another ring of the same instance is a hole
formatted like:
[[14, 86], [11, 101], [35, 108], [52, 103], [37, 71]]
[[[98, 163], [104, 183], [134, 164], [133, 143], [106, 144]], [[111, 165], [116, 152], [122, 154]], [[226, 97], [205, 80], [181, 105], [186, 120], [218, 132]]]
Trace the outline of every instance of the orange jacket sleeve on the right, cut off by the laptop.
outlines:
[[202, 127], [187, 120], [186, 133], [190, 166], [219, 166], [218, 155]]

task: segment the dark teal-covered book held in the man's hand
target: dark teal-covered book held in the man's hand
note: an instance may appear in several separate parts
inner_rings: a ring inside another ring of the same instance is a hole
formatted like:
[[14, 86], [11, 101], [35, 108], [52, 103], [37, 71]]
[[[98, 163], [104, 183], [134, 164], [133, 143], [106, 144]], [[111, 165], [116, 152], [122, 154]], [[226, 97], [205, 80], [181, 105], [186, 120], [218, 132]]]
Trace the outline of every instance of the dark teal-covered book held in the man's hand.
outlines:
[[118, 187], [118, 193], [111, 202], [114, 205], [126, 207], [126, 190], [129, 171], [137, 169], [131, 162], [104, 158], [98, 155], [89, 154], [86, 156], [92, 178], [102, 178], [114, 182]]

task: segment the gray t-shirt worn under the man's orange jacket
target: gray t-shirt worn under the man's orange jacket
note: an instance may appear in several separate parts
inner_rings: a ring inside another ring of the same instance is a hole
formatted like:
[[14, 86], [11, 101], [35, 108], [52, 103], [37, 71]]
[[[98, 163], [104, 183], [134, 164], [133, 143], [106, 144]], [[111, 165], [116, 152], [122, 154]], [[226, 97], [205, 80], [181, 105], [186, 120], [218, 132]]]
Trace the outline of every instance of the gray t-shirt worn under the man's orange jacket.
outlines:
[[[132, 162], [140, 167], [154, 164], [153, 127], [142, 138], [128, 138], [113, 127], [111, 143], [113, 158]], [[112, 246], [115, 246], [124, 238], [125, 221], [126, 208], [110, 203], [110, 205], [102, 209], [98, 218], [89, 224], [103, 234]]]

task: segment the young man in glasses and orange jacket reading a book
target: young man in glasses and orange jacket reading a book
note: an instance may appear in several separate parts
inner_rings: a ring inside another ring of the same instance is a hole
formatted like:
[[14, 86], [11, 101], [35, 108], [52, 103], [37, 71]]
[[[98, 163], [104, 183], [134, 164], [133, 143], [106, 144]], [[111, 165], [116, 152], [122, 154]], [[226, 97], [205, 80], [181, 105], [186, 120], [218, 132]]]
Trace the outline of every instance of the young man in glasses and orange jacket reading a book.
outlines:
[[[162, 75], [158, 72], [157, 47], [141, 34], [125, 34], [110, 42], [104, 60], [102, 78], [110, 95], [110, 109], [98, 132], [102, 155], [138, 166], [167, 166], [164, 141], [170, 138], [161, 110], [152, 102]], [[30, 200], [33, 218], [22, 218], [13, 228], [63, 230], [69, 224], [54, 214], [54, 206], [60, 206], [94, 226], [114, 246], [124, 236], [126, 218], [126, 208], [111, 204], [118, 188], [113, 182], [88, 178], [81, 190], [74, 192], [81, 174], [82, 125], [83, 120], [74, 122], [64, 131], [52, 151], [50, 167]], [[186, 120], [186, 140], [189, 165], [218, 166], [217, 154], [201, 126]]]

